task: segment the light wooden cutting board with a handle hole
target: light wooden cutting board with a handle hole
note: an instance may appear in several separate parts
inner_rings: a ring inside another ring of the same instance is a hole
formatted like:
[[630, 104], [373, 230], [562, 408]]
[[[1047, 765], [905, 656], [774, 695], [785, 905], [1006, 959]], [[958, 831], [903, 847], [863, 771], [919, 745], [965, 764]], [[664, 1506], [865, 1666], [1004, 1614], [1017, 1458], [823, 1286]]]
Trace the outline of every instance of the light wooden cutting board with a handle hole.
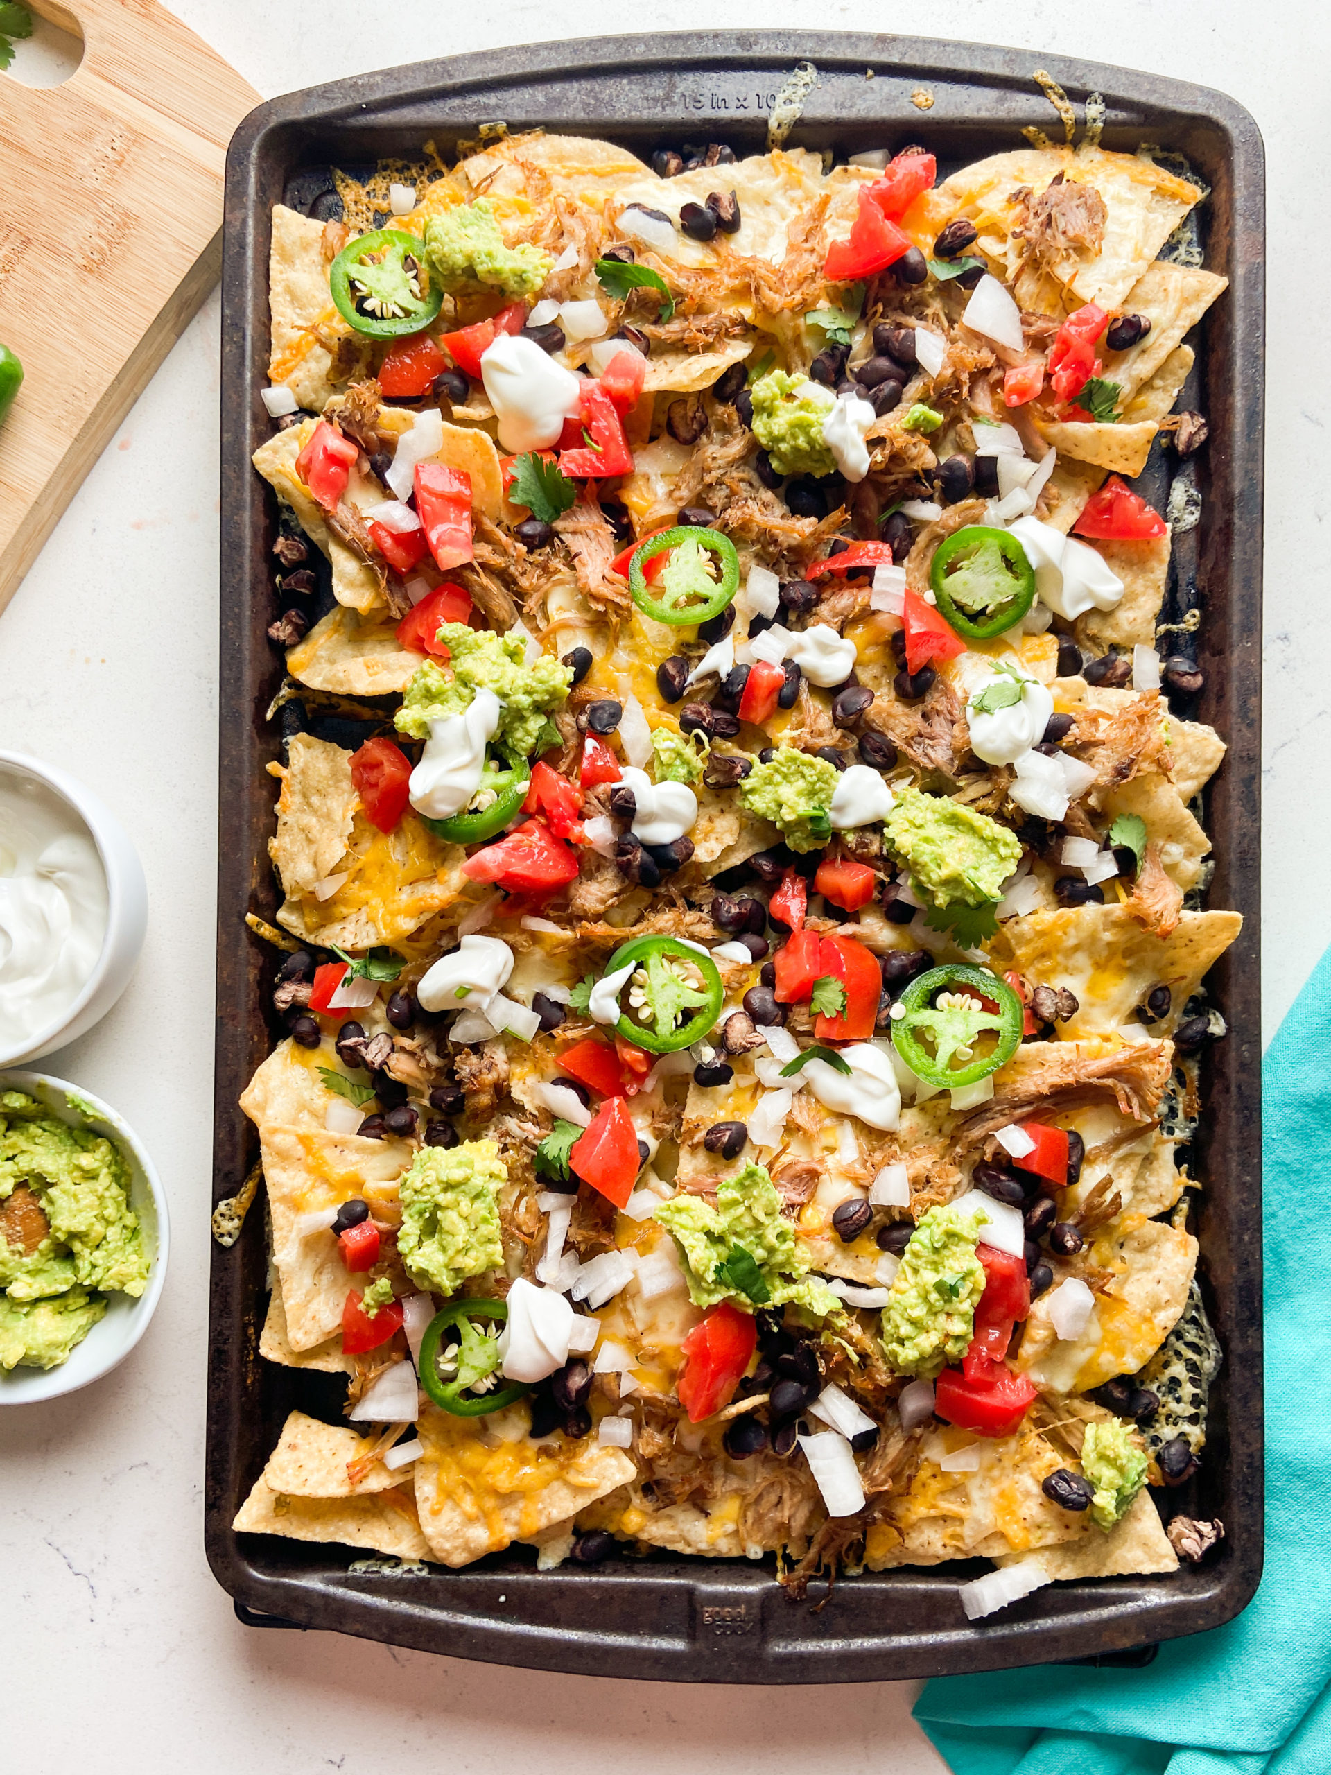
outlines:
[[28, 0], [83, 37], [62, 87], [0, 76], [0, 611], [222, 266], [222, 174], [259, 94], [156, 0]]

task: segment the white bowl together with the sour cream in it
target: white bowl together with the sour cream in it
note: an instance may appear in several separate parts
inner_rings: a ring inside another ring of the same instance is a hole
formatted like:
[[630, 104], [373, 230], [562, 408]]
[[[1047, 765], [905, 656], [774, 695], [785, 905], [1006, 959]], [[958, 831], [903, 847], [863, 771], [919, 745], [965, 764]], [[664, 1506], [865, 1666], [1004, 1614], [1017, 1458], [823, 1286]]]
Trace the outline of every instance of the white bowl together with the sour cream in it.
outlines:
[[105, 1017], [146, 927], [144, 868], [121, 822], [64, 770], [0, 753], [0, 1067]]

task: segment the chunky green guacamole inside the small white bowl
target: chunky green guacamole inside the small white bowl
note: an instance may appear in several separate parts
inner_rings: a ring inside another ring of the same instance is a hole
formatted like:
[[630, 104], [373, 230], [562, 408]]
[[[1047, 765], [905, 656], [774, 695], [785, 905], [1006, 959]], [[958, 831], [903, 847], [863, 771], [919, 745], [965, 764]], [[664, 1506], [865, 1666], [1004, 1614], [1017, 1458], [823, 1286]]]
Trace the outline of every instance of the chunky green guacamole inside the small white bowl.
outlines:
[[137, 1298], [147, 1271], [119, 1147], [0, 1093], [0, 1367], [66, 1361], [106, 1310], [89, 1290]]

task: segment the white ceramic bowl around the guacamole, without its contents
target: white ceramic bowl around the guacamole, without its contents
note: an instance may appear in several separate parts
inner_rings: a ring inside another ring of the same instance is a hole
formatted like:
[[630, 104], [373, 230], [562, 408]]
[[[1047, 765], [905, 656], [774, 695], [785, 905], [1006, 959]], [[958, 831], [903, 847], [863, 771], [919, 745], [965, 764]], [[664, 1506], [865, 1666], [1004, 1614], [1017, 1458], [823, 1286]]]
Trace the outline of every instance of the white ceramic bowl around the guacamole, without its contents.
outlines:
[[[30, 1406], [43, 1399], [75, 1393], [80, 1386], [99, 1381], [103, 1374], [110, 1374], [117, 1363], [124, 1361], [147, 1331], [147, 1322], [161, 1299], [170, 1223], [161, 1179], [147, 1148], [110, 1104], [78, 1085], [67, 1085], [44, 1072], [0, 1072], [0, 1090], [27, 1092], [28, 1097], [37, 1097], [60, 1122], [69, 1122], [73, 1127], [91, 1127], [115, 1141], [130, 1166], [130, 1203], [144, 1228], [144, 1244], [153, 1266], [147, 1273], [147, 1287], [137, 1301], [115, 1289], [106, 1294], [105, 1315], [92, 1326], [83, 1342], [75, 1345], [69, 1361], [62, 1361], [59, 1369], [11, 1369], [9, 1374], [0, 1369], [0, 1406]], [[91, 1116], [71, 1106], [71, 1092], [87, 1104], [92, 1111]]]

